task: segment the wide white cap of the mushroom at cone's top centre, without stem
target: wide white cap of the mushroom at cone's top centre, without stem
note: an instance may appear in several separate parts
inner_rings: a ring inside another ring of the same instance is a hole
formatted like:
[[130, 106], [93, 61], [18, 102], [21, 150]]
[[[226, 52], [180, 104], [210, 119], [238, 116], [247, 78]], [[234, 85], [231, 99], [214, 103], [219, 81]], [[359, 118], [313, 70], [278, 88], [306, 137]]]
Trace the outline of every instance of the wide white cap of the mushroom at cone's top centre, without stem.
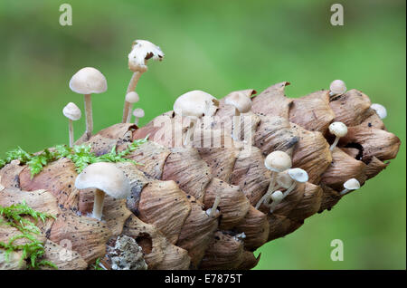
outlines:
[[[202, 117], [213, 116], [218, 109], [219, 101], [211, 94], [194, 90], [179, 96], [174, 103], [175, 114], [180, 116]], [[204, 115], [208, 109], [208, 114]]]

